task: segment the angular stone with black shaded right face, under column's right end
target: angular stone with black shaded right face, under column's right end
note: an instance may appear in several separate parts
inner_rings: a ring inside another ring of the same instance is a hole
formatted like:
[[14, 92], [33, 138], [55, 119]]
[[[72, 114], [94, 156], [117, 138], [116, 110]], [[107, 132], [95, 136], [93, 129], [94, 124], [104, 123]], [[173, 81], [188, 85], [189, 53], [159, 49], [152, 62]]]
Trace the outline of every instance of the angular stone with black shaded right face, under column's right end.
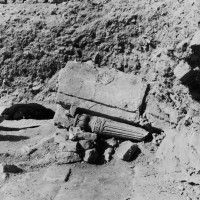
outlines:
[[121, 160], [130, 161], [137, 149], [137, 144], [131, 141], [125, 141], [119, 145], [118, 149], [116, 150], [116, 156]]

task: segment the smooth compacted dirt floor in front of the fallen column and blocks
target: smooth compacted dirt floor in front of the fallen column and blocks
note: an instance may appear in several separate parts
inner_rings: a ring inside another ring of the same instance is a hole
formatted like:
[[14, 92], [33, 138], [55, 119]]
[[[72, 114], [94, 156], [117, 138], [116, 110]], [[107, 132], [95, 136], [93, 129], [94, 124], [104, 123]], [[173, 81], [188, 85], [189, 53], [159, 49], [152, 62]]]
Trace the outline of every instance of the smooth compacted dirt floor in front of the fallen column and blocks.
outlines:
[[[82, 162], [58, 166], [48, 157], [56, 149], [51, 140], [55, 129], [52, 120], [1, 123], [0, 162], [23, 169], [22, 173], [0, 174], [2, 200], [177, 200], [191, 199], [193, 195], [189, 195], [184, 183], [159, 173], [156, 147], [151, 142], [139, 144], [141, 153], [132, 162], [114, 156], [102, 165]], [[24, 156], [33, 146], [37, 150]], [[45, 178], [51, 167], [57, 179]], [[67, 169], [69, 173], [64, 174]]]

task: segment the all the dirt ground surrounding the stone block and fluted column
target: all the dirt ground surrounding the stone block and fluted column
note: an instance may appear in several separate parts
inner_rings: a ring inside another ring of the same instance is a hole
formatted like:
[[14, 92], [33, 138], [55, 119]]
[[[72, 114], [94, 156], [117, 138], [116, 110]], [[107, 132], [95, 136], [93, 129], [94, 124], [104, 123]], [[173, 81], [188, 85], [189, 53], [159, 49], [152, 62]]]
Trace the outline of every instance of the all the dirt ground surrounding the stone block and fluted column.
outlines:
[[4, 121], [0, 162], [23, 172], [0, 174], [0, 199], [199, 199], [199, 0], [22, 2], [0, 0], [0, 110], [17, 102], [55, 110], [60, 69], [87, 62], [149, 86], [139, 123], [157, 139], [132, 162], [56, 166], [71, 168], [68, 179], [47, 181], [53, 121]]

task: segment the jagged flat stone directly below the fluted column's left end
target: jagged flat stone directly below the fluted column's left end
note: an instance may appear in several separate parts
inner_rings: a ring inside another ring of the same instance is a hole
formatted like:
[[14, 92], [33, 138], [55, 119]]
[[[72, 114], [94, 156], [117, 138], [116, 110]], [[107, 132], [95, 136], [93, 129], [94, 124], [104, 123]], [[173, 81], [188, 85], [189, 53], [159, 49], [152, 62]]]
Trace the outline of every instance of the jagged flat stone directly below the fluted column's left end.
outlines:
[[78, 140], [96, 140], [97, 134], [83, 132], [79, 127], [70, 127], [69, 129], [69, 139], [73, 141]]

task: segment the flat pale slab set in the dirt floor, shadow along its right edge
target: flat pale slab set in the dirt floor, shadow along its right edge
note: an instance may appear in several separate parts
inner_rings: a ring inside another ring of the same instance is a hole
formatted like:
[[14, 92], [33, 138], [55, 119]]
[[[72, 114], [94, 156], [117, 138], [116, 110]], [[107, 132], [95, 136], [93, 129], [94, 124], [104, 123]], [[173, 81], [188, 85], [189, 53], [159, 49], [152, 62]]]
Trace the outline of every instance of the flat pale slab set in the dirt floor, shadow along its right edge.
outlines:
[[51, 166], [44, 174], [43, 180], [47, 182], [66, 182], [71, 174], [68, 166]]

